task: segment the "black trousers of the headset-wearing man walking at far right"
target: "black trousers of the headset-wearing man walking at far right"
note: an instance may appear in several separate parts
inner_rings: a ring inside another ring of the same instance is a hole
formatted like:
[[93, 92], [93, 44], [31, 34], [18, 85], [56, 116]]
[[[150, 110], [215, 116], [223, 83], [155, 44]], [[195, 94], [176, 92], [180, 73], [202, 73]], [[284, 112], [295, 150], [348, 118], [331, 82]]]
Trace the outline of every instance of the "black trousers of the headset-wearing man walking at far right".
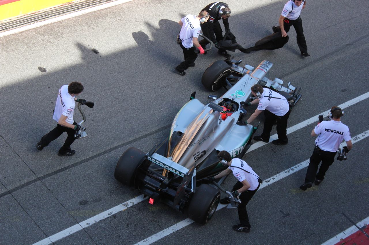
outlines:
[[[307, 167], [305, 183], [314, 182], [315, 178], [318, 180], [323, 180], [324, 175], [327, 172], [329, 166], [334, 162], [334, 157], [337, 152], [326, 152], [325, 150], [320, 150], [317, 147], [314, 148], [313, 155], [310, 157], [310, 163]], [[319, 163], [322, 162], [319, 172], [317, 174]]]

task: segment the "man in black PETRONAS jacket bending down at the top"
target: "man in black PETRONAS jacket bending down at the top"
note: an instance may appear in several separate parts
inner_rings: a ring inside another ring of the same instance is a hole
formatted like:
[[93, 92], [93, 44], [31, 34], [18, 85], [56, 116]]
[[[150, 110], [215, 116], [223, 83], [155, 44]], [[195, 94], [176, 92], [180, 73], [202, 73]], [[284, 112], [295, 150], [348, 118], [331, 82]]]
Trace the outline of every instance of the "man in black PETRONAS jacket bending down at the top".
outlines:
[[[204, 36], [214, 43], [215, 47], [218, 49], [218, 54], [228, 57], [229, 54], [227, 51], [218, 45], [218, 42], [224, 38], [222, 28], [218, 22], [220, 19], [223, 19], [225, 32], [227, 33], [230, 31], [228, 18], [231, 16], [231, 10], [228, 7], [228, 4], [222, 2], [211, 3], [203, 8], [203, 11], [207, 11], [210, 15], [209, 20], [201, 25], [201, 30], [203, 31]], [[209, 42], [206, 39], [200, 41], [200, 45], [203, 49], [206, 49], [206, 45], [208, 43]]]

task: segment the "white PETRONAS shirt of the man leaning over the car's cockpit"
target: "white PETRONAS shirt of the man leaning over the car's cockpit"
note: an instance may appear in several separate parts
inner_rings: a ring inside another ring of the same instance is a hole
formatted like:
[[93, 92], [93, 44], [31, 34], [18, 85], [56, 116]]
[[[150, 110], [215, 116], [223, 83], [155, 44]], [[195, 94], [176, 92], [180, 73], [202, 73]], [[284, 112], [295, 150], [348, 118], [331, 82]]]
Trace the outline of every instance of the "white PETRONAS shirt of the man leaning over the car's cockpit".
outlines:
[[[274, 97], [274, 98], [272, 98]], [[281, 98], [281, 99], [275, 99]], [[264, 88], [264, 92], [259, 98], [258, 110], [268, 110], [271, 113], [281, 117], [284, 116], [290, 109], [287, 99], [272, 89]]]

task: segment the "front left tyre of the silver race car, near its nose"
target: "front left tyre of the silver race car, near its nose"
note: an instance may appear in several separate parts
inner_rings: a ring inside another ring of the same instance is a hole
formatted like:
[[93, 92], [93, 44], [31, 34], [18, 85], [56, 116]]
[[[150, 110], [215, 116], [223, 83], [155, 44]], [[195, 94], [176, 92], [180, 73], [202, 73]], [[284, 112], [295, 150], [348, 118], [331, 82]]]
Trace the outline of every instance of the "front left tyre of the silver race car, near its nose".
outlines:
[[226, 84], [225, 78], [232, 74], [231, 67], [223, 60], [215, 61], [204, 72], [201, 83], [210, 91], [217, 91]]

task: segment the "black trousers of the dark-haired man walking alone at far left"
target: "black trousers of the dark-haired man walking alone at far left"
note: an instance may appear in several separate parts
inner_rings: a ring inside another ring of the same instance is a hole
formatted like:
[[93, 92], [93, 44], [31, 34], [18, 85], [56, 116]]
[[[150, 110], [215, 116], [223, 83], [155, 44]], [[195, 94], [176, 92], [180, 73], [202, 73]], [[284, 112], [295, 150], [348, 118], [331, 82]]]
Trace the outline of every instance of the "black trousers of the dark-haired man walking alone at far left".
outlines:
[[[76, 124], [76, 122], [73, 122]], [[57, 139], [64, 132], [67, 132], [68, 137], [66, 138], [64, 145], [59, 149], [59, 153], [64, 154], [70, 151], [70, 145], [76, 140], [74, 137], [75, 130], [72, 128], [63, 127], [62, 125], [56, 124], [56, 127], [52, 129], [50, 132], [42, 136], [41, 141], [38, 142], [42, 147], [48, 146], [49, 143], [55, 139]]]

